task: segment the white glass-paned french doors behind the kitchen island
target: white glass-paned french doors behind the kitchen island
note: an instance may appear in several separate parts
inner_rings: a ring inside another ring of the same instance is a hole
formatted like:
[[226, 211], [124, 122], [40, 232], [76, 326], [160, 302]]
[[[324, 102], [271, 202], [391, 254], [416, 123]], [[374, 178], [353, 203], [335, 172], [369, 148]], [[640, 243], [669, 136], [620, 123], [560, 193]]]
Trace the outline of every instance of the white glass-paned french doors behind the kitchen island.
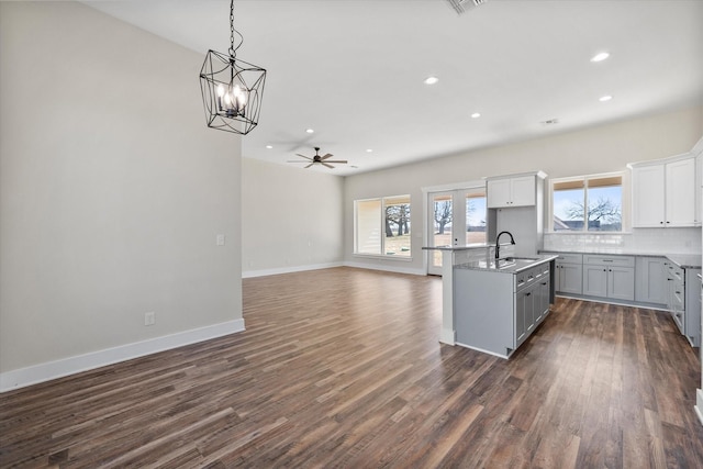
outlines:
[[[486, 242], [486, 187], [427, 193], [427, 242], [432, 247]], [[442, 275], [442, 252], [428, 250], [427, 273]]]

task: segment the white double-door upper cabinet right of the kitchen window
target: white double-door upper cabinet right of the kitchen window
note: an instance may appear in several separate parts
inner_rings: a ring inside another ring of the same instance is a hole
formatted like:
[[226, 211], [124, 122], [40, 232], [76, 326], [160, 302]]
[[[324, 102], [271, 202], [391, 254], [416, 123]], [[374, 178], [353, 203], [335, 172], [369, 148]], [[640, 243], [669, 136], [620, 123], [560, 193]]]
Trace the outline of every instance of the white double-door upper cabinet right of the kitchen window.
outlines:
[[691, 155], [632, 164], [633, 226], [698, 226], [696, 165]]

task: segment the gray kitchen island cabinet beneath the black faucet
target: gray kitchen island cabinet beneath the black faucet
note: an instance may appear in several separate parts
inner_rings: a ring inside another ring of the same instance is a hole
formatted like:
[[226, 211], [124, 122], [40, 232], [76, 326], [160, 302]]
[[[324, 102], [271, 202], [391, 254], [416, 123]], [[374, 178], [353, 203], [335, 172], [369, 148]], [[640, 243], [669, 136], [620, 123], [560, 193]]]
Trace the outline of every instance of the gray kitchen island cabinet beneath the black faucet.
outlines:
[[[456, 343], [507, 358], [549, 314], [556, 256], [454, 268]], [[522, 265], [521, 265], [522, 264]]]

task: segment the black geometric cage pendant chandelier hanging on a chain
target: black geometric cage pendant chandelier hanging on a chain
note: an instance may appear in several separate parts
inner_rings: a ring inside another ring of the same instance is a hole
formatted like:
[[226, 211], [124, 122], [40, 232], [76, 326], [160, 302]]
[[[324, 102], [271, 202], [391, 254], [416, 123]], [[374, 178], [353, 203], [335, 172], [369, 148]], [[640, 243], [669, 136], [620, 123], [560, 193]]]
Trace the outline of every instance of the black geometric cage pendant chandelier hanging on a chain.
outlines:
[[[239, 43], [234, 46], [234, 34]], [[200, 70], [200, 90], [208, 126], [246, 135], [259, 121], [266, 70], [236, 58], [244, 36], [234, 29], [234, 0], [230, 1], [230, 51], [208, 51]]]

